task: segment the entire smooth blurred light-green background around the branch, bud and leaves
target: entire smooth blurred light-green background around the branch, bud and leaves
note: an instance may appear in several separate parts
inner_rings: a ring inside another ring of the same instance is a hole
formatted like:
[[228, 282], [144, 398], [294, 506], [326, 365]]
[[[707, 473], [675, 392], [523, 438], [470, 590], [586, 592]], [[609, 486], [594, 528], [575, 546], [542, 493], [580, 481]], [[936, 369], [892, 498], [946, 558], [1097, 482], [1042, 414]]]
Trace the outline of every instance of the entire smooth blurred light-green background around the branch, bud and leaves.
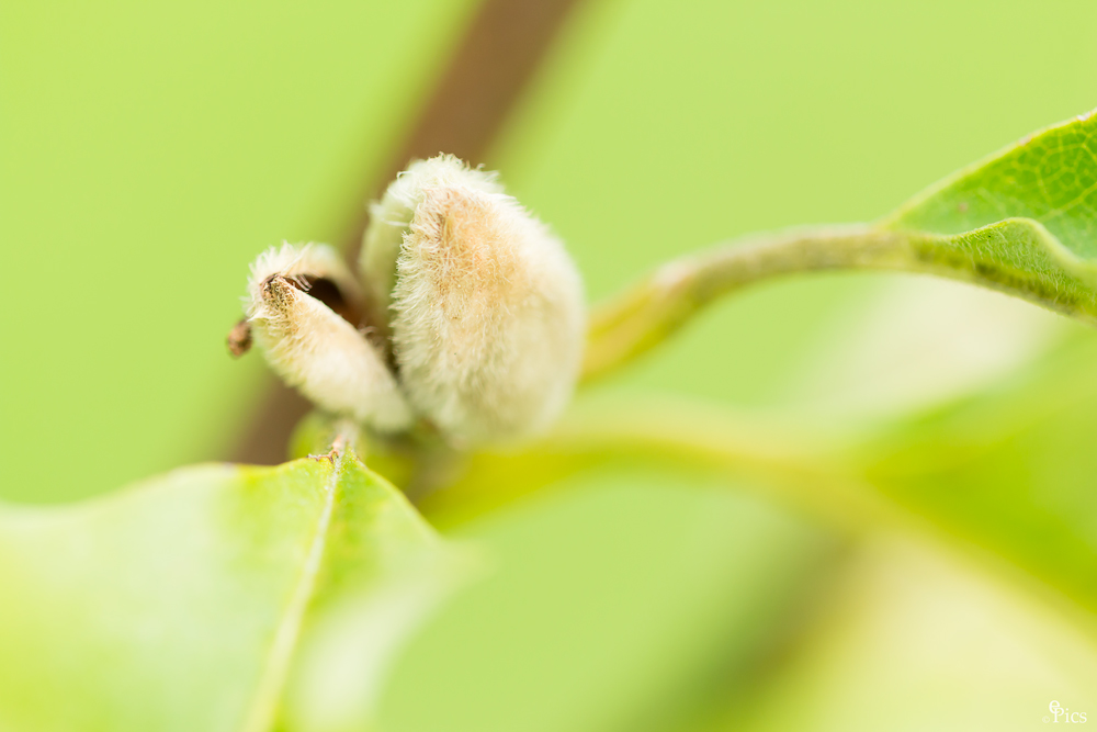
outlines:
[[[249, 261], [341, 236], [476, 11], [0, 7], [0, 498], [234, 453], [270, 384], [224, 346]], [[739, 234], [871, 221], [1097, 105], [1095, 29], [1085, 0], [587, 0], [475, 162], [597, 301]], [[580, 406], [886, 430], [1064, 342], [1094, 336], [962, 285], [813, 275], [720, 304]], [[1097, 717], [1083, 611], [929, 541], [850, 558], [737, 487], [615, 465], [452, 529], [498, 571], [402, 657], [385, 729], [1032, 729], [1052, 699]]]

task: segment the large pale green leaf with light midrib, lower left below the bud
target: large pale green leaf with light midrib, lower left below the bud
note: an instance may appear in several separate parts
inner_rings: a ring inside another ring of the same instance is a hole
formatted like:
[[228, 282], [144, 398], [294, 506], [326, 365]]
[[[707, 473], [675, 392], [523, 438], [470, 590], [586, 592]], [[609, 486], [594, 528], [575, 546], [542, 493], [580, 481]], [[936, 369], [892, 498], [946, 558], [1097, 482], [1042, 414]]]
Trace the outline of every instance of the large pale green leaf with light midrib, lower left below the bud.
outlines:
[[[399, 492], [335, 452], [4, 506], [0, 729], [303, 729], [319, 699], [308, 729], [366, 727], [449, 558]], [[335, 627], [343, 663], [318, 666]]]

